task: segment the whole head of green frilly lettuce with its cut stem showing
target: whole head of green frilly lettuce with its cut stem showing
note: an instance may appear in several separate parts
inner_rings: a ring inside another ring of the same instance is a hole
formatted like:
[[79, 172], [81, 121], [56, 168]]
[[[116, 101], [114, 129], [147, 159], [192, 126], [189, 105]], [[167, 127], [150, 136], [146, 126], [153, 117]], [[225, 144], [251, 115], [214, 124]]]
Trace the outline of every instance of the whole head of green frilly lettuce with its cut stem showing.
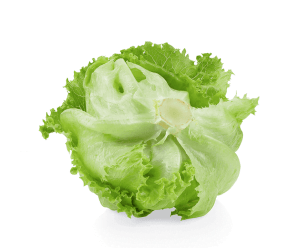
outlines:
[[203, 216], [237, 180], [242, 121], [258, 98], [226, 98], [232, 71], [169, 44], [99, 57], [67, 80], [67, 99], [40, 131], [67, 137], [72, 174], [104, 207], [147, 216]]

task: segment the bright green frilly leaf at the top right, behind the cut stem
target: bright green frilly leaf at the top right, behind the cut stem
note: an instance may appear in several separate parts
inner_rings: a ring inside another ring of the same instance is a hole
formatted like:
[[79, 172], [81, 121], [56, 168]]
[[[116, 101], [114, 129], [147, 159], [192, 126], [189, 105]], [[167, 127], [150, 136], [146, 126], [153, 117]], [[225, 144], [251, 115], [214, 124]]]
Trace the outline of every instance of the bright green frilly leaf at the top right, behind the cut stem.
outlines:
[[168, 43], [152, 45], [146, 42], [143, 46], [122, 50], [111, 59], [123, 58], [160, 74], [171, 88], [189, 92], [191, 105], [200, 108], [217, 104], [220, 99], [227, 100], [228, 81], [233, 74], [230, 70], [225, 72], [221, 60], [210, 58], [210, 55], [198, 56], [195, 65], [185, 49], [180, 53]]

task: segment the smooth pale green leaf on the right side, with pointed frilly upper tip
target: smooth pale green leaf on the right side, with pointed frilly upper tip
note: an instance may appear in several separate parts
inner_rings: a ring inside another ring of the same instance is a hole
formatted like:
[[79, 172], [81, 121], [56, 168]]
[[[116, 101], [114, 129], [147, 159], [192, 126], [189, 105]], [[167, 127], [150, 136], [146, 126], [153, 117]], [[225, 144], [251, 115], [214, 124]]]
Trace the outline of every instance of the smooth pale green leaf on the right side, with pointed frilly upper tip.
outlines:
[[[242, 140], [240, 124], [255, 113], [258, 98], [235, 97], [203, 109], [192, 109], [194, 121], [178, 136], [179, 143], [195, 166], [195, 182], [176, 201], [172, 214], [182, 219], [199, 217], [213, 206], [237, 180], [240, 171], [234, 153]], [[214, 184], [214, 182], [216, 184]]]

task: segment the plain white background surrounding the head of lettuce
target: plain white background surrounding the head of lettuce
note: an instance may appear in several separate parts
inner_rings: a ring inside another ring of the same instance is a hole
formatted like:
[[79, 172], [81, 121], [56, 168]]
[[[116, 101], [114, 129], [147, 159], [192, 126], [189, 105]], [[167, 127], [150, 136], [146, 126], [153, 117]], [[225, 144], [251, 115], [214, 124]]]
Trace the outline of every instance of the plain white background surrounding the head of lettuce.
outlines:
[[[1, 247], [300, 247], [299, 1], [1, 1]], [[242, 124], [241, 174], [206, 216], [127, 218], [69, 173], [63, 135], [45, 141], [88, 61], [168, 42], [232, 69], [228, 97], [260, 97]]]

